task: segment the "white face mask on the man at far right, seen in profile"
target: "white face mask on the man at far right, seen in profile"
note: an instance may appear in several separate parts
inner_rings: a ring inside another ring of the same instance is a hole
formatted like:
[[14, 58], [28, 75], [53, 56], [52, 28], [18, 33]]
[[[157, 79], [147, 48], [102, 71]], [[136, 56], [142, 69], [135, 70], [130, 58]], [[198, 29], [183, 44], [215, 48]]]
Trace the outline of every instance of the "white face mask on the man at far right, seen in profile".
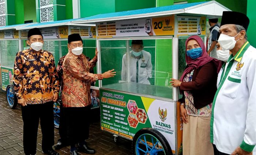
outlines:
[[[240, 32], [239, 32], [239, 33], [240, 33]], [[238, 35], [239, 33], [237, 33], [237, 35]], [[236, 36], [237, 36], [237, 35], [236, 35]], [[236, 42], [237, 42], [238, 40], [240, 40], [240, 39], [235, 40], [235, 37], [236, 37], [236, 36], [231, 37], [231, 36], [228, 36], [228, 35], [221, 34], [221, 35], [219, 36], [219, 40], [218, 40], [219, 44], [221, 45], [221, 48], [222, 48], [224, 51], [233, 49], [233, 48], [235, 47], [235, 45], [236, 45]]]

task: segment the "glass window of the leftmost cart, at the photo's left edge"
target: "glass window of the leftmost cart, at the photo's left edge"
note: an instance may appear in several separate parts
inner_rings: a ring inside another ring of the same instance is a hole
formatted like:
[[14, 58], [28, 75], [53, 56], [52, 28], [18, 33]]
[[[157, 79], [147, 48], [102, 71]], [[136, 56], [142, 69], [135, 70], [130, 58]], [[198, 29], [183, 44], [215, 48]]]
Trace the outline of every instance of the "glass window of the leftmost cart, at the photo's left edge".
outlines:
[[16, 53], [19, 52], [18, 40], [0, 40], [1, 65], [8, 68], [14, 67]]

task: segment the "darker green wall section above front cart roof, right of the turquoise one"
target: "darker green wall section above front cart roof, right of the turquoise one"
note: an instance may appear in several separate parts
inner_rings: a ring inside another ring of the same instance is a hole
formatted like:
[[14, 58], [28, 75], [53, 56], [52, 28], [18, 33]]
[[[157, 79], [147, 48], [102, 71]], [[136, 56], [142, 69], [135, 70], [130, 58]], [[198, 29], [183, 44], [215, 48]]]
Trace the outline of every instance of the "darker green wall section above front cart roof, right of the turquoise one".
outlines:
[[115, 12], [154, 7], [155, 0], [115, 0]]

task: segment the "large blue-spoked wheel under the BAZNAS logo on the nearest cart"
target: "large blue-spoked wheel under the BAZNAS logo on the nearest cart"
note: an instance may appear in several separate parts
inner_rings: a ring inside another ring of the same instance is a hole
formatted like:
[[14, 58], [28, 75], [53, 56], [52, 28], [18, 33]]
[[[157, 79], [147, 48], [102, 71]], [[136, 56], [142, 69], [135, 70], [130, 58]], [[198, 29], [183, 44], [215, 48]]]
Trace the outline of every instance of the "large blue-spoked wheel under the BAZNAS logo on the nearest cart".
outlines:
[[135, 134], [132, 152], [134, 155], [172, 155], [166, 138], [153, 128], [143, 128]]

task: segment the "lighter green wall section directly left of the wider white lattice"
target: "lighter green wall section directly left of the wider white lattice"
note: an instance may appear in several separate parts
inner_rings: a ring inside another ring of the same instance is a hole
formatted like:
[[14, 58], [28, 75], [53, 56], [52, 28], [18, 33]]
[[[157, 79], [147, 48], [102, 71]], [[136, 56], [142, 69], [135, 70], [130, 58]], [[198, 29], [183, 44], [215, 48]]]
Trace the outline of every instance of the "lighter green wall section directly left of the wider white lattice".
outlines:
[[37, 22], [36, 14], [35, 0], [24, 0], [24, 21], [33, 20], [33, 22]]

